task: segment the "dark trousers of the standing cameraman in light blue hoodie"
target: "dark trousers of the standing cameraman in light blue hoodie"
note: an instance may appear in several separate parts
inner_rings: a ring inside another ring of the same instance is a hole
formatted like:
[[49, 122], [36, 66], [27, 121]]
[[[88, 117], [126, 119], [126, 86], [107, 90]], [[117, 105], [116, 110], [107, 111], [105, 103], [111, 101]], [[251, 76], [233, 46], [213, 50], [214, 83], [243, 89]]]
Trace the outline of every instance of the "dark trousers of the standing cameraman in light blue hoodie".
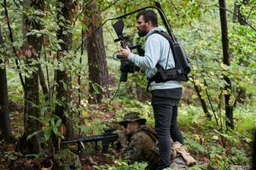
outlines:
[[177, 104], [179, 99], [152, 95], [155, 130], [158, 135], [160, 163], [158, 169], [171, 165], [171, 138], [183, 144], [183, 136], [177, 127]]

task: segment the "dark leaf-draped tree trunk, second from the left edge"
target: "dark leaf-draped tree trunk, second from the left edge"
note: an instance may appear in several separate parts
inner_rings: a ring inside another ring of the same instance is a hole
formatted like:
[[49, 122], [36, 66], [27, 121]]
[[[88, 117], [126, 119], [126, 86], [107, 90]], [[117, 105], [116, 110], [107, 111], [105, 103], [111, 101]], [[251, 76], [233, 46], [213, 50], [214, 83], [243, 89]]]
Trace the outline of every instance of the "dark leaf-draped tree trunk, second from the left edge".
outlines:
[[[19, 146], [21, 152], [39, 153], [41, 148], [42, 124], [38, 121], [40, 117], [39, 110], [39, 84], [38, 84], [38, 56], [41, 53], [43, 37], [31, 33], [32, 30], [42, 30], [40, 18], [44, 11], [44, 0], [27, 0], [23, 2], [24, 9], [33, 8], [38, 11], [37, 14], [23, 16], [23, 31], [25, 44], [23, 50], [26, 58], [26, 77], [24, 88], [24, 127], [25, 132]], [[32, 137], [32, 138], [30, 138]], [[28, 139], [28, 140], [27, 140]]]

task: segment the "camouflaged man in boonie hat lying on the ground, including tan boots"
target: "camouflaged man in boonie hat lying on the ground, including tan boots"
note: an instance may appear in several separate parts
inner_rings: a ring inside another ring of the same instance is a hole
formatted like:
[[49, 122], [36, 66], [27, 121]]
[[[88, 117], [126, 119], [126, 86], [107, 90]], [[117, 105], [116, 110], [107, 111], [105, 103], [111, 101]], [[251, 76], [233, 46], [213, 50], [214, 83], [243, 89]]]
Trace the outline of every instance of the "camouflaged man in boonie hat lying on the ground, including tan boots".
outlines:
[[[131, 163], [134, 161], [146, 161], [147, 169], [157, 168], [160, 161], [157, 134], [152, 127], [145, 125], [146, 119], [141, 118], [139, 113], [130, 112], [125, 114], [124, 120], [119, 122], [125, 127], [125, 133], [119, 135], [122, 144], [122, 156]], [[183, 144], [177, 141], [172, 144], [173, 166], [187, 167], [195, 164], [195, 159], [184, 149]]]

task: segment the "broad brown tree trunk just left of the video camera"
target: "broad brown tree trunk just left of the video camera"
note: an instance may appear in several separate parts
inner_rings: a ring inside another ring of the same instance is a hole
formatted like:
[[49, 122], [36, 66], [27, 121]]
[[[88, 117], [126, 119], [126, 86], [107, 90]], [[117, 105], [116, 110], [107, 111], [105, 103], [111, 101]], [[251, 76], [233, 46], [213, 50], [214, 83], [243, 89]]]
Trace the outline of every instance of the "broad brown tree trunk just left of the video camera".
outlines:
[[[103, 95], [108, 96], [108, 91], [102, 88], [108, 86], [108, 68], [106, 60], [106, 52], [103, 42], [102, 27], [96, 30], [98, 26], [101, 26], [101, 14], [97, 13], [99, 5], [96, 1], [90, 3], [87, 6], [85, 15], [91, 16], [90, 19], [86, 18], [87, 25], [89, 27], [90, 34], [87, 41], [87, 53], [89, 63], [89, 80], [90, 80], [90, 94], [93, 103], [101, 103]], [[96, 31], [95, 31], [96, 30]], [[90, 33], [92, 32], [92, 33]]]

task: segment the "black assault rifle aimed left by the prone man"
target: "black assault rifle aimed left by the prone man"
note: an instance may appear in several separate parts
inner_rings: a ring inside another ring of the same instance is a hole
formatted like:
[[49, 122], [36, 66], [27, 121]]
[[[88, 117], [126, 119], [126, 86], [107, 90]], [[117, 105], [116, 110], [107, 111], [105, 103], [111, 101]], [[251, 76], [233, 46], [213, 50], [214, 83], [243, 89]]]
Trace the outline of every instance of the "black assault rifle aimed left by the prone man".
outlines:
[[102, 141], [102, 153], [107, 153], [108, 144], [111, 144], [118, 139], [118, 134], [113, 133], [113, 130], [115, 129], [109, 128], [104, 130], [104, 133], [102, 135], [79, 137], [78, 139], [63, 141], [61, 142], [61, 144], [77, 143], [78, 153], [80, 154], [82, 149], [85, 148], [84, 143], [95, 142], [95, 144], [97, 145], [97, 142]]

